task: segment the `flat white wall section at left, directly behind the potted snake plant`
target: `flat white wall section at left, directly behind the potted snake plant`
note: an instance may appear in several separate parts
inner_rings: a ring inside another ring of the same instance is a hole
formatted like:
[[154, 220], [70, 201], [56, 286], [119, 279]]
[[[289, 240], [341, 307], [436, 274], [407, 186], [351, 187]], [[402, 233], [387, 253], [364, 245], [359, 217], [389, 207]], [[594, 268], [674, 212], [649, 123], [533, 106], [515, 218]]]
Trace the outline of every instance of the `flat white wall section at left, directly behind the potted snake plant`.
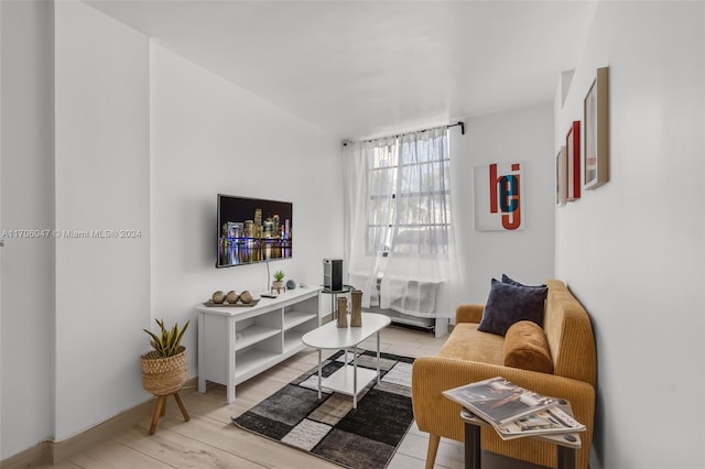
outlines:
[[[147, 396], [149, 40], [78, 1], [56, 6], [56, 429], [62, 440]], [[123, 238], [122, 230], [138, 230]]]

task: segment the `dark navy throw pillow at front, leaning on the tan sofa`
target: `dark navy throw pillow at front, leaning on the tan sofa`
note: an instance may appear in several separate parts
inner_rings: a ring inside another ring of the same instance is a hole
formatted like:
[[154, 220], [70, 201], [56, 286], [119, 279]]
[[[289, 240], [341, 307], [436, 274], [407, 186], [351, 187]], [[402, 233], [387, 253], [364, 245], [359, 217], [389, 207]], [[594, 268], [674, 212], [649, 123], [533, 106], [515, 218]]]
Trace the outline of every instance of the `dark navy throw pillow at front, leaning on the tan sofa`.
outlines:
[[543, 326], [543, 307], [547, 287], [520, 286], [492, 279], [489, 297], [478, 330], [503, 336], [520, 320]]

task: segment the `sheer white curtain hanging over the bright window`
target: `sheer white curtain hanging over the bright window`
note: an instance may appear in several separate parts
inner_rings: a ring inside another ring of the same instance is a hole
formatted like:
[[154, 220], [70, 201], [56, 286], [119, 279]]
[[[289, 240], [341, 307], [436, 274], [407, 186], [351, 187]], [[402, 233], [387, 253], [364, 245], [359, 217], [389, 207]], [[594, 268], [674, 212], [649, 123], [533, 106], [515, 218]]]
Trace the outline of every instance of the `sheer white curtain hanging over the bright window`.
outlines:
[[364, 306], [437, 316], [441, 283], [457, 276], [447, 129], [344, 149], [346, 260]]

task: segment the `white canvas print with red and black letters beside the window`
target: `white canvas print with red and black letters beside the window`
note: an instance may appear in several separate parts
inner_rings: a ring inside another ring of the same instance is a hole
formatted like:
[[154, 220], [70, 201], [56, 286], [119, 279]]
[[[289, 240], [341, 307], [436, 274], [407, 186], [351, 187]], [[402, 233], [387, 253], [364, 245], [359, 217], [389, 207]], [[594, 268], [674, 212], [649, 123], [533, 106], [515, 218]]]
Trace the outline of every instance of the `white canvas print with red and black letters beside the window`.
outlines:
[[523, 230], [522, 166], [514, 162], [475, 167], [476, 230]]

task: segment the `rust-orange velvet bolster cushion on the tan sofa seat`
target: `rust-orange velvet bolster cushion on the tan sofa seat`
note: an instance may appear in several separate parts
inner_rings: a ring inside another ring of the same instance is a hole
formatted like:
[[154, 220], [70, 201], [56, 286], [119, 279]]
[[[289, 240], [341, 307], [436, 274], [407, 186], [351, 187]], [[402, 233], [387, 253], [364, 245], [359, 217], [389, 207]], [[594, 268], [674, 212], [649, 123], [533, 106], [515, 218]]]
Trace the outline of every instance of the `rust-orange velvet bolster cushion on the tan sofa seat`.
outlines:
[[553, 373], [553, 361], [543, 329], [530, 320], [514, 323], [505, 336], [505, 367]]

